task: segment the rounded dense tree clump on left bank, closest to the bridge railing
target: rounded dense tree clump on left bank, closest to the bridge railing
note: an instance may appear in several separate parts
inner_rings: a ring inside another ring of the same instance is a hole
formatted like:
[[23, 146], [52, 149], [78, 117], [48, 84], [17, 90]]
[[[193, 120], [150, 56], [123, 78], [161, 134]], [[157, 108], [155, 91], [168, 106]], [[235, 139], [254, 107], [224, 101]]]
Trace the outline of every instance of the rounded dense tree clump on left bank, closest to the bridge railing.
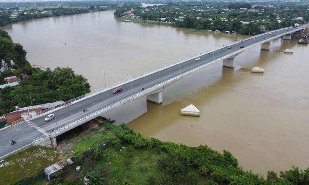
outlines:
[[32, 104], [39, 105], [81, 96], [90, 92], [90, 85], [87, 79], [74, 74], [71, 68], [56, 68], [54, 71], [36, 68], [32, 76], [22, 80], [19, 85], [2, 89], [0, 114], [13, 111], [15, 106], [31, 106], [29, 92]]

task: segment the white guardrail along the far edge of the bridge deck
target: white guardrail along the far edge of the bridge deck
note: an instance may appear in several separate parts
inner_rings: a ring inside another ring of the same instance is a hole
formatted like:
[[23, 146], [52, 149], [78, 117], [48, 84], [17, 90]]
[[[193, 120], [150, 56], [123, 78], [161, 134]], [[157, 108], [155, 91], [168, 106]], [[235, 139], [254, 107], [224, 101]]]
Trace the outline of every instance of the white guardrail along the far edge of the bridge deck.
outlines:
[[[290, 27], [290, 28], [291, 28], [291, 27]], [[290, 28], [289, 28], [289, 29], [290, 29]], [[280, 29], [280, 30], [283, 30], [283, 29], [286, 29], [286, 28], [282, 28], [282, 29]], [[304, 28], [299, 28], [299, 29], [293, 28], [293, 31], [295, 31], [295, 30], [298, 31], [298, 30], [302, 30], [302, 29], [304, 29]], [[276, 30], [276, 31], [277, 31], [277, 30]], [[293, 31], [292, 31], [292, 32], [293, 32]], [[290, 32], [290, 31], [289, 31], [289, 32]], [[260, 35], [268, 35], [268, 34], [269, 34], [269, 32], [265, 32], [265, 33], [260, 34]], [[255, 37], [258, 37], [258, 36], [260, 36], [260, 35], [255, 35], [255, 36], [252, 36], [252, 37], [248, 37], [247, 39], [254, 39]], [[286, 35], [286, 33], [281, 34], [281, 35]], [[277, 36], [278, 36], [278, 35], [277, 35]], [[277, 37], [277, 36], [276, 36], [276, 37]], [[271, 39], [269, 38], [269, 39], [266, 39], [266, 40], [264, 40], [264, 41], [262, 41], [262, 42], [269, 41], [269, 40], [272, 40], [272, 39], [274, 39], [274, 38], [271, 38]], [[223, 46], [220, 46], [220, 47], [217, 47], [217, 48], [214, 48], [214, 49], [205, 51], [205, 52], [203, 52], [203, 53], [199, 53], [199, 54], [197, 54], [197, 55], [193, 55], [193, 56], [190, 56], [190, 57], [188, 57], [188, 58], [185, 58], [185, 59], [182, 59], [182, 60], [178, 60], [178, 61], [173, 62], [173, 63], [171, 63], [171, 64], [167, 64], [167, 65], [161, 66], [161, 67], [159, 67], [159, 68], [153, 69], [153, 70], [151, 70], [151, 71], [144, 72], [144, 73], [142, 73], [142, 74], [140, 74], [140, 75], [133, 76], [131, 79], [132, 79], [132, 80], [137, 80], [137, 79], [139, 79], [139, 78], [141, 78], [141, 77], [143, 77], [143, 76], [150, 75], [150, 74], [152, 74], [152, 73], [154, 73], [154, 72], [158, 72], [158, 71], [163, 70], [163, 69], [165, 69], [165, 68], [167, 68], [167, 67], [171, 67], [171, 66], [173, 66], [173, 65], [177, 65], [177, 64], [183, 63], [183, 62], [185, 62], [185, 61], [187, 61], [187, 60], [191, 60], [191, 59], [193, 59], [193, 58], [195, 58], [195, 57], [197, 57], [197, 56], [205, 55], [206, 53], [210, 53], [210, 52], [212, 52], [212, 51], [221, 49], [221, 48], [226, 47], [226, 46], [229, 46], [229, 45], [233, 45], [233, 44], [236, 44], [236, 43], [240, 43], [240, 42], [241, 42], [241, 41], [238, 40], [238, 41], [236, 41], [236, 42], [232, 42], [232, 43], [229, 43], [229, 44], [226, 44], [226, 45], [223, 45]], [[261, 42], [256, 43], [256, 44], [254, 44], [254, 45], [252, 45], [252, 46], [256, 46], [256, 45], [258, 45], [258, 44], [260, 44], [260, 43], [261, 43]], [[249, 48], [249, 47], [246, 47], [246, 49], [248, 49], [248, 48]], [[237, 50], [237, 51], [240, 51], [240, 50]], [[22, 123], [23, 121], [28, 120], [28, 119], [35, 119], [37, 116], [40, 116], [40, 115], [42, 115], [42, 114], [44, 114], [44, 113], [47, 113], [47, 112], [49, 112], [49, 111], [52, 111], [53, 109], [61, 108], [61, 107], [65, 106], [65, 105], [68, 105], [68, 104], [70, 104], [70, 103], [74, 103], [74, 102], [76, 102], [76, 101], [78, 101], [78, 100], [91, 97], [92, 95], [94, 96], [94, 95], [96, 95], [96, 94], [98, 94], [98, 93], [101, 93], [101, 92], [110, 90], [110, 89], [112, 89], [112, 88], [115, 88], [115, 87], [117, 87], [117, 86], [119, 86], [119, 85], [122, 85], [122, 84], [124, 84], [124, 83], [126, 83], [126, 82], [129, 82], [129, 81], [130, 81], [130, 78], [127, 78], [127, 79], [125, 79], [125, 80], [116, 82], [116, 83], [114, 83], [114, 84], [108, 85], [108, 86], [103, 87], [103, 88], [100, 88], [100, 89], [98, 89], [98, 90], [89, 92], [89, 93], [84, 94], [84, 95], [82, 95], [82, 96], [76, 97], [76, 98], [74, 98], [74, 99], [72, 99], [72, 100], [66, 101], [66, 102], [64, 102], [64, 103], [61, 104], [61, 105], [57, 105], [57, 106], [55, 106], [55, 107], [52, 107], [52, 108], [49, 108], [49, 109], [45, 109], [45, 110], [43, 110], [43, 111], [41, 111], [41, 112], [38, 112], [38, 113], [36, 113], [36, 116], [35, 116], [35, 117], [26, 117], [26, 118], [23, 118], [23, 119], [20, 119], [20, 120], [17, 120], [17, 121], [13, 121], [13, 122], [12, 122], [12, 125], [13, 125], [13, 126], [14, 126], [14, 125], [17, 125], [17, 124], [19, 124], [19, 123]], [[45, 114], [44, 114], [44, 115], [45, 115]]]

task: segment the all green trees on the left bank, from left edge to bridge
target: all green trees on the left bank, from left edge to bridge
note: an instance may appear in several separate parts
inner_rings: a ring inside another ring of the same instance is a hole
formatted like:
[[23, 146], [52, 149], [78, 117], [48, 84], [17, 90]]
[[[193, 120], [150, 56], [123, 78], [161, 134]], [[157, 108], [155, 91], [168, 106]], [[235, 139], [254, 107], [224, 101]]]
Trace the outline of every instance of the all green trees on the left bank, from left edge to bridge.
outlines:
[[[27, 52], [19, 43], [13, 43], [6, 31], [0, 30], [0, 58], [8, 66], [7, 71], [1, 72], [0, 83], [5, 84], [4, 78], [17, 76], [22, 81], [13, 87], [3, 88], [0, 97], [0, 115], [15, 110], [15, 106], [27, 107], [58, 100], [67, 101], [90, 92], [90, 85], [82, 75], [76, 75], [67, 68], [32, 68], [26, 60]], [[11, 65], [13, 60], [15, 64]], [[15, 69], [11, 71], [11, 69]], [[23, 79], [22, 74], [31, 75]]]

